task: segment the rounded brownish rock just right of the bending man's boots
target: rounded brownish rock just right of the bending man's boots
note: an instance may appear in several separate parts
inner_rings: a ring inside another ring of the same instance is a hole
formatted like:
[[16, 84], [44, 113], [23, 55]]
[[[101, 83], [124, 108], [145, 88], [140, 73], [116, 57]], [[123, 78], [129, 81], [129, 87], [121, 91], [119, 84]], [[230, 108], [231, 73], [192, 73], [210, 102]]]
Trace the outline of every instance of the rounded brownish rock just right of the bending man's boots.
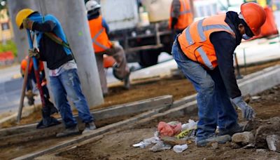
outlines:
[[253, 142], [254, 136], [251, 132], [242, 132], [242, 133], [235, 133], [232, 135], [232, 142], [235, 142], [238, 145], [248, 145], [249, 143]]

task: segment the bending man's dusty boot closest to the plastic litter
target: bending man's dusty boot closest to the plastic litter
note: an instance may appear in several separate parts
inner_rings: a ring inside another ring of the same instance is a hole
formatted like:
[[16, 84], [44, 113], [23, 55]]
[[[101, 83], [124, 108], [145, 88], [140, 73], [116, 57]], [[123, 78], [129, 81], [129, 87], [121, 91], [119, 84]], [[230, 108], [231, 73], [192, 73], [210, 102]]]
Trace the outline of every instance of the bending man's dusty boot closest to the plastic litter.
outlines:
[[221, 135], [221, 136], [214, 135], [205, 140], [198, 140], [197, 147], [205, 147], [209, 142], [218, 142], [219, 144], [224, 144], [225, 142], [228, 142], [230, 140], [231, 140], [230, 135]]

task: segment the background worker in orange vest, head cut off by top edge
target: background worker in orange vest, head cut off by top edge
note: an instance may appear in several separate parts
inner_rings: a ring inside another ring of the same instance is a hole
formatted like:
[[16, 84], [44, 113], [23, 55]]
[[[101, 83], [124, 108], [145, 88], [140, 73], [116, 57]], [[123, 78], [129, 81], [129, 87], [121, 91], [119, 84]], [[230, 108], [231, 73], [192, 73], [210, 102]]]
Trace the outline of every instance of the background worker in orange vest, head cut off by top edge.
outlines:
[[170, 8], [169, 28], [175, 37], [193, 22], [189, 0], [173, 0]]

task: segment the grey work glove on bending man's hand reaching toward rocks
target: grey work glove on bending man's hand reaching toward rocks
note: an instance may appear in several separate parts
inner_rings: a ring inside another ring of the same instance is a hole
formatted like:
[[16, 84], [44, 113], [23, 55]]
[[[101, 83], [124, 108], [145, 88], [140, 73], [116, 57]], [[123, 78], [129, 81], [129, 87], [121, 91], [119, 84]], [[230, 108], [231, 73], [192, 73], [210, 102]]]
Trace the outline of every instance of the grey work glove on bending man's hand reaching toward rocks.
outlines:
[[246, 120], [251, 120], [255, 117], [255, 111], [249, 106], [241, 96], [233, 98], [232, 102], [241, 109], [242, 117]]

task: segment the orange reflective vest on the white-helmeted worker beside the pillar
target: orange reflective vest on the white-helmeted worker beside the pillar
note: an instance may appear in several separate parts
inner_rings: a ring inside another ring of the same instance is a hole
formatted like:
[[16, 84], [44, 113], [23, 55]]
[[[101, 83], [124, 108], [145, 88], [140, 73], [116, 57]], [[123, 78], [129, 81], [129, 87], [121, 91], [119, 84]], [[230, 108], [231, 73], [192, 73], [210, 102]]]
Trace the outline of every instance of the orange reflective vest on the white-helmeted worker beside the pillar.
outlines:
[[94, 52], [98, 53], [111, 48], [112, 44], [106, 34], [106, 29], [102, 26], [102, 16], [88, 21]]

